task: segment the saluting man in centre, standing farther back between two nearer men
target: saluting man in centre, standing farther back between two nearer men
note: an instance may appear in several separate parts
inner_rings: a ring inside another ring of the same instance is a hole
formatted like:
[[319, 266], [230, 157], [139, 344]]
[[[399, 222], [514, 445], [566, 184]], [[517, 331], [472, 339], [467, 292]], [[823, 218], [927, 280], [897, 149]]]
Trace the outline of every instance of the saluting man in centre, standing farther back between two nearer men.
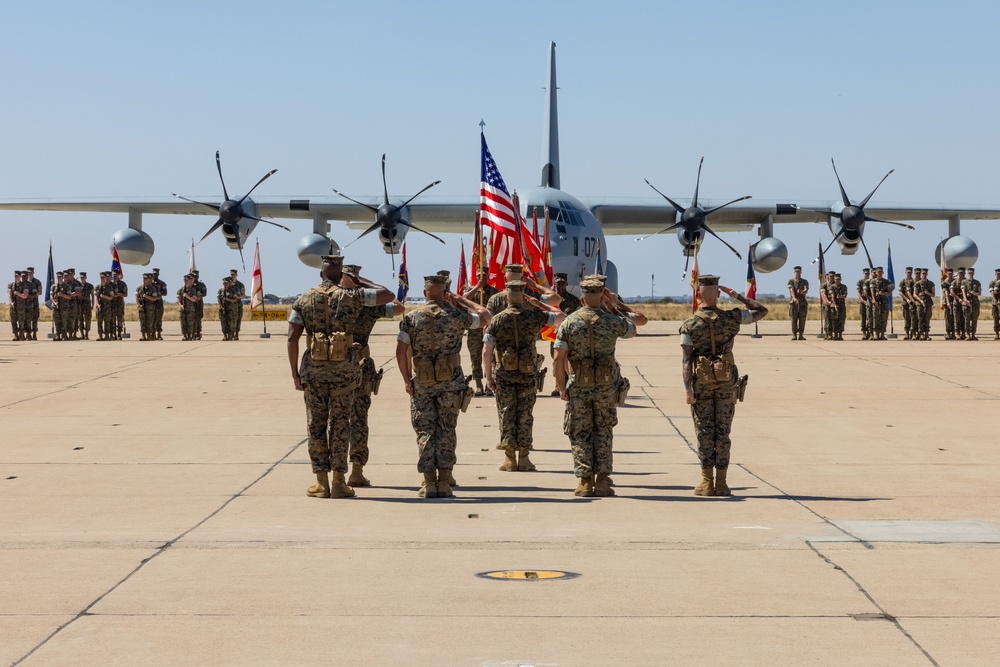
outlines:
[[486, 386], [496, 393], [500, 443], [504, 461], [500, 470], [531, 472], [528, 458], [537, 396], [538, 352], [535, 342], [545, 326], [556, 326], [566, 315], [525, 297], [525, 283], [511, 280], [505, 290], [508, 306], [493, 317], [483, 335], [482, 363]]

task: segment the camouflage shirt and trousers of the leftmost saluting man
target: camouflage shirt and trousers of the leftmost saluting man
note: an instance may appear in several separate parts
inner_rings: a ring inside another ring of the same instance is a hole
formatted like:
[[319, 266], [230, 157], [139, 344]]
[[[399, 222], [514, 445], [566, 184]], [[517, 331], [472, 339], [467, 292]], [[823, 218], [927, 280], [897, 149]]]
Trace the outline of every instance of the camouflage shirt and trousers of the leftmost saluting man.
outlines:
[[[328, 280], [300, 296], [288, 321], [312, 334], [350, 331], [362, 309], [375, 305], [376, 290], [346, 289]], [[351, 404], [361, 378], [358, 348], [348, 348], [344, 361], [314, 361], [308, 344], [299, 369], [309, 429], [309, 459], [314, 473], [347, 472], [351, 440]]]

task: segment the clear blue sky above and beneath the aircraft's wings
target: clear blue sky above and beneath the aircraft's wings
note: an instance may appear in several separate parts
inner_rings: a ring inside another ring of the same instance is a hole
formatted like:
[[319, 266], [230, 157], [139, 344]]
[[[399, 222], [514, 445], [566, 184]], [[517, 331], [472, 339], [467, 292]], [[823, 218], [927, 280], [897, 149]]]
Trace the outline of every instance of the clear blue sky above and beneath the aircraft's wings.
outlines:
[[[278, 168], [259, 194], [376, 194], [385, 152], [390, 194], [441, 179], [434, 194], [475, 197], [481, 118], [507, 183], [536, 185], [551, 40], [562, 186], [578, 197], [648, 197], [649, 178], [686, 200], [704, 155], [703, 197], [832, 200], [833, 157], [854, 199], [895, 168], [873, 202], [1000, 207], [991, 3], [39, 0], [4, 3], [0, 25], [0, 198], [214, 197], [217, 149], [233, 191]], [[151, 266], [171, 288], [212, 222], [145, 216]], [[962, 228], [987, 280], [997, 224]], [[358, 234], [333, 225], [341, 245]], [[57, 267], [96, 274], [126, 226], [124, 215], [0, 213], [0, 274], [44, 267], [50, 239]], [[269, 292], [316, 282], [295, 256], [311, 223], [289, 226], [256, 232]], [[764, 292], [784, 291], [791, 266], [831, 238], [821, 225], [775, 233], [789, 262], [758, 276]], [[900, 270], [931, 266], [946, 233], [944, 222], [869, 224], [865, 238], [876, 263], [891, 239]], [[411, 274], [457, 269], [459, 235], [408, 238]], [[742, 250], [756, 233], [726, 238]], [[714, 239], [703, 248], [702, 269], [741, 288], [745, 263]], [[610, 237], [608, 250], [623, 294], [648, 294], [654, 274], [658, 294], [686, 291], [672, 235]], [[395, 284], [374, 235], [348, 252]], [[197, 256], [210, 286], [238, 266], [218, 234]], [[848, 282], [863, 264], [863, 253], [828, 258]], [[143, 270], [126, 267], [126, 280]]]

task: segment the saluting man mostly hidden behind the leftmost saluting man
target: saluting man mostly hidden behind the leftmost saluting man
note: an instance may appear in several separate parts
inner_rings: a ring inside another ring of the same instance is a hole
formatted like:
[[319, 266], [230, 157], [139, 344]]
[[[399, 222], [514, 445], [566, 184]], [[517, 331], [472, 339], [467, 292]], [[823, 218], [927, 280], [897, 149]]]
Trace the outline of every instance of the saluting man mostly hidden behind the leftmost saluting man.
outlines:
[[[374, 290], [386, 289], [363, 278], [361, 267], [356, 264], [344, 265], [340, 286], [345, 289], [357, 287]], [[354, 343], [359, 346], [358, 356], [361, 367], [361, 379], [351, 404], [351, 440], [348, 454], [351, 462], [351, 476], [347, 480], [350, 486], [371, 486], [371, 480], [364, 475], [364, 467], [368, 465], [369, 454], [368, 411], [372, 406], [372, 394], [375, 392], [376, 383], [381, 380], [381, 371], [375, 369], [375, 361], [371, 357], [368, 340], [376, 322], [383, 317], [402, 315], [403, 310], [403, 304], [395, 299], [382, 306], [365, 306], [358, 314], [358, 318], [354, 320], [354, 324], [347, 330], [354, 336]]]

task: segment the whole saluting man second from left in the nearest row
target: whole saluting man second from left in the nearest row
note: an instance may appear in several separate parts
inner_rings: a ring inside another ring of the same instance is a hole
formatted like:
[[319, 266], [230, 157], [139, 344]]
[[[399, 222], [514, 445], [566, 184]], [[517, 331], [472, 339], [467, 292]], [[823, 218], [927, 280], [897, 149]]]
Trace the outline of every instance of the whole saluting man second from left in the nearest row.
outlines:
[[396, 342], [396, 365], [410, 395], [410, 423], [417, 434], [418, 495], [450, 498], [455, 467], [455, 426], [469, 386], [462, 374], [462, 335], [488, 324], [489, 312], [445, 291], [444, 276], [424, 277], [427, 304], [403, 316]]

